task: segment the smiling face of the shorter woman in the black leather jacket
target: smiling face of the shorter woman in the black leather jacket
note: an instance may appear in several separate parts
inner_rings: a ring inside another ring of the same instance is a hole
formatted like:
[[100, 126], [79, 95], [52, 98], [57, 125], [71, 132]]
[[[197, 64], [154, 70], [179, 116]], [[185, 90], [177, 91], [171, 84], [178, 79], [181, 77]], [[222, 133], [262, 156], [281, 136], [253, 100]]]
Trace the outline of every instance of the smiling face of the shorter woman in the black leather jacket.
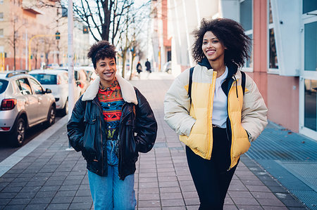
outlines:
[[102, 86], [110, 86], [116, 79], [116, 60], [114, 58], [100, 59], [96, 63], [96, 73], [100, 77]]

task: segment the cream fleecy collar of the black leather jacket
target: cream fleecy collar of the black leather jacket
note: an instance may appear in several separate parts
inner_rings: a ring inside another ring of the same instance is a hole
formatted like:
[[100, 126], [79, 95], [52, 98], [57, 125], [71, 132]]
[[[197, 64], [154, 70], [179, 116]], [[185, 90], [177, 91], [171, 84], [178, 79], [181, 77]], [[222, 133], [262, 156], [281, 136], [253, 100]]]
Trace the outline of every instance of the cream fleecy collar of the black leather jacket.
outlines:
[[[128, 103], [134, 103], [137, 105], [137, 95], [135, 94], [135, 88], [130, 84], [129, 81], [123, 79], [119, 74], [116, 74], [116, 78], [121, 88], [121, 93], [123, 96], [123, 100]], [[100, 78], [97, 77], [92, 84], [89, 85], [84, 95], [82, 96], [82, 101], [86, 100], [94, 100], [97, 96], [99, 90], [99, 82]]]

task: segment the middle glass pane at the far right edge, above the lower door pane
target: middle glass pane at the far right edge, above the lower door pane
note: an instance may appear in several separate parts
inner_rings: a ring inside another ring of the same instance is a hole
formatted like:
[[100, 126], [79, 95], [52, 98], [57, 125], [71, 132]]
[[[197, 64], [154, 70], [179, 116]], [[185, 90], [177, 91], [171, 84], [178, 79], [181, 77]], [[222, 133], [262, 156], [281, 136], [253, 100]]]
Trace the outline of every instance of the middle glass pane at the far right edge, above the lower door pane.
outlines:
[[317, 71], [317, 22], [305, 24], [304, 70]]

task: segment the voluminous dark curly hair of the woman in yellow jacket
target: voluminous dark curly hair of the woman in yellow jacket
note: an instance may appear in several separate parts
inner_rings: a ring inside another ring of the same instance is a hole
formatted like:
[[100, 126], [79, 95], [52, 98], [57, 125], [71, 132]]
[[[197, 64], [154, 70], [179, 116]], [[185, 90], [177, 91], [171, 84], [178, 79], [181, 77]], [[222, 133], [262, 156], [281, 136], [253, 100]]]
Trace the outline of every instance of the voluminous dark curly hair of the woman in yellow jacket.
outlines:
[[249, 49], [251, 39], [244, 34], [242, 26], [227, 18], [218, 18], [216, 20], [201, 20], [199, 29], [194, 30], [194, 38], [196, 41], [192, 46], [192, 56], [198, 63], [206, 56], [202, 51], [202, 42], [206, 32], [213, 34], [223, 43], [225, 49], [225, 64], [235, 63], [238, 67], [242, 67], [247, 58], [249, 58]]

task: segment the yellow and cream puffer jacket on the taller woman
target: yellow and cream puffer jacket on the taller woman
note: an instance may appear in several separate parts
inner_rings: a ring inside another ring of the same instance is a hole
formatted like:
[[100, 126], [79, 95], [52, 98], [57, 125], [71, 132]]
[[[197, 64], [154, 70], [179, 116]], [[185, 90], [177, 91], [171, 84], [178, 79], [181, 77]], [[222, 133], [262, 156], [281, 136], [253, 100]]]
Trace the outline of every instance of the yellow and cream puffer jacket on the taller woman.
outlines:
[[[241, 72], [237, 65], [227, 65], [228, 77], [222, 84], [228, 98], [227, 133], [231, 142], [230, 169], [235, 166], [267, 124], [267, 108], [254, 81], [246, 74], [244, 94]], [[192, 151], [211, 159], [213, 148], [213, 95], [217, 72], [208, 60], [194, 67], [192, 74], [192, 104], [188, 96], [189, 69], [173, 81], [164, 100], [164, 119], [180, 135], [180, 141]]]

